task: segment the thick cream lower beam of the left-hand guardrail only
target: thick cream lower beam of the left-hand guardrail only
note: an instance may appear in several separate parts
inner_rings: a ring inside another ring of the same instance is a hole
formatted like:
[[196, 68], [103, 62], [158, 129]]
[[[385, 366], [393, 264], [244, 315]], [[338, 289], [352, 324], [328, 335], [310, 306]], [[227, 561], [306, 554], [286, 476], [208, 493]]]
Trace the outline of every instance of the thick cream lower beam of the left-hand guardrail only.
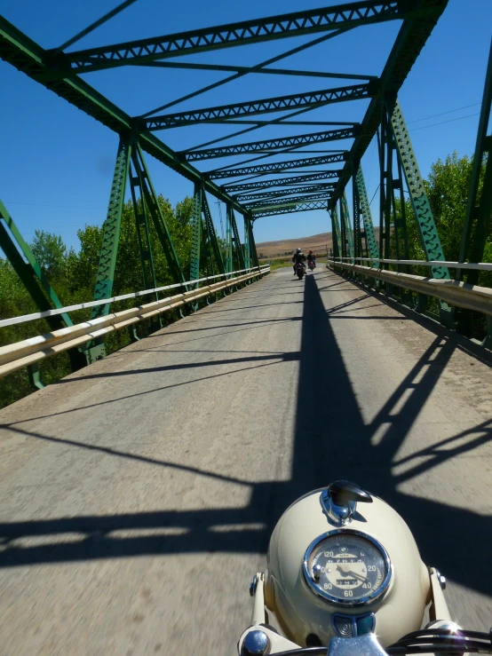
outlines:
[[[190, 289], [189, 291], [175, 296], [167, 296], [152, 303], [107, 314], [98, 319], [83, 321], [69, 328], [60, 328], [60, 330], [54, 330], [52, 333], [30, 337], [22, 342], [7, 344], [6, 346], [0, 347], [0, 377], [11, 374], [17, 369], [34, 365], [40, 360], [45, 360], [57, 353], [81, 346], [92, 339], [107, 335], [107, 333], [128, 328], [134, 323], [139, 323], [139, 321], [151, 319], [163, 312], [169, 312], [185, 304], [197, 301], [200, 298], [216, 294], [222, 289], [234, 287], [239, 282], [249, 281], [269, 272], [269, 266], [263, 267], [262, 269], [258, 268], [253, 273], [246, 273], [226, 281], [215, 282], [202, 288]], [[226, 275], [230, 274], [228, 273]], [[152, 291], [146, 290], [148, 293]], [[105, 301], [107, 302], [107, 299]], [[64, 310], [66, 311], [66, 309]]]

